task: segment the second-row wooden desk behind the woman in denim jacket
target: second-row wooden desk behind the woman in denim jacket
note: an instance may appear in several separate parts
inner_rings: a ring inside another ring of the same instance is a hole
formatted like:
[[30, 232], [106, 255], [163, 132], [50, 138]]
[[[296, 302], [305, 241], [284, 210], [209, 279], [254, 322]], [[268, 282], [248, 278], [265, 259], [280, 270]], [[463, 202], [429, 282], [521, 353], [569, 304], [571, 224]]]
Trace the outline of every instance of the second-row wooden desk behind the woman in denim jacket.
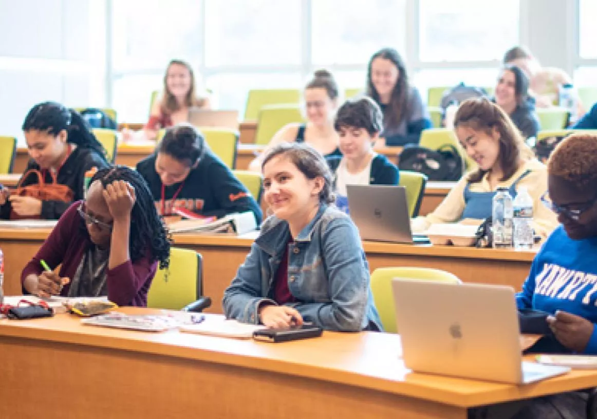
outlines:
[[[0, 249], [5, 258], [5, 294], [21, 292], [20, 273], [50, 233], [47, 229], [0, 229]], [[224, 289], [244, 262], [256, 233], [237, 236], [174, 235], [174, 245], [193, 249], [203, 256], [204, 294], [213, 300], [209, 311], [221, 313]], [[378, 267], [420, 266], [447, 270], [464, 282], [503, 284], [521, 289], [535, 251], [476, 249], [450, 246], [419, 247], [364, 242], [371, 271]]]

